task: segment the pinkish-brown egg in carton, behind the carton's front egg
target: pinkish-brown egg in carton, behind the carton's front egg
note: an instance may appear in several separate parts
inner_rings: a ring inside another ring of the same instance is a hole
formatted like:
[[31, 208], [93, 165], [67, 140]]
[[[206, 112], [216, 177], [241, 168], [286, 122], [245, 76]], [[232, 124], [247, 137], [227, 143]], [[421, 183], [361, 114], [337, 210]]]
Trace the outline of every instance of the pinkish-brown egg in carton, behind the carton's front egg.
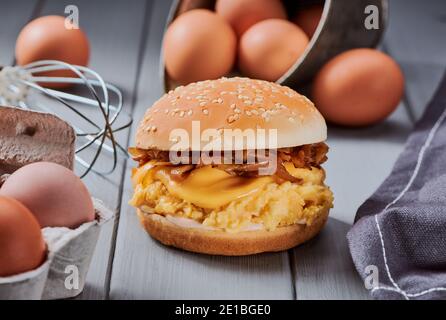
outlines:
[[76, 228], [95, 217], [84, 183], [55, 163], [38, 162], [17, 170], [6, 180], [0, 195], [23, 203], [41, 227]]

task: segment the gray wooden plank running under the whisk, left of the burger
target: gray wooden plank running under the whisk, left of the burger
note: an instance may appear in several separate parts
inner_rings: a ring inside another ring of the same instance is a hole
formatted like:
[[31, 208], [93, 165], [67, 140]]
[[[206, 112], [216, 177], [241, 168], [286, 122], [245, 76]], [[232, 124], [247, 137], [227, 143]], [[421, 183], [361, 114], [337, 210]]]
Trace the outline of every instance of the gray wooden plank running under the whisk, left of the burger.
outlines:
[[[17, 2], [16, 2], [17, 3]], [[42, 15], [64, 15], [69, 0], [49, 0], [45, 2]], [[79, 24], [87, 33], [91, 44], [90, 67], [103, 78], [117, 85], [124, 94], [124, 110], [130, 112], [133, 101], [138, 53], [142, 37], [142, 26], [146, 2], [138, 1], [88, 1], [75, 2], [79, 8]], [[40, 104], [57, 106], [48, 99], [39, 98]], [[61, 108], [59, 106], [59, 108]], [[62, 108], [61, 108], [62, 109]], [[85, 111], [85, 110], [84, 110]], [[73, 121], [73, 118], [70, 118]], [[77, 123], [76, 123], [77, 124]], [[126, 146], [128, 132], [117, 135], [118, 141]], [[108, 168], [111, 157], [101, 157], [99, 167]], [[96, 198], [118, 213], [121, 201], [121, 182], [124, 161], [121, 160], [116, 171], [106, 177], [90, 174], [85, 182]], [[77, 171], [81, 172], [79, 166]], [[96, 247], [95, 256], [87, 277], [87, 284], [81, 299], [104, 299], [108, 287], [110, 257], [114, 249], [114, 221], [103, 228]]]

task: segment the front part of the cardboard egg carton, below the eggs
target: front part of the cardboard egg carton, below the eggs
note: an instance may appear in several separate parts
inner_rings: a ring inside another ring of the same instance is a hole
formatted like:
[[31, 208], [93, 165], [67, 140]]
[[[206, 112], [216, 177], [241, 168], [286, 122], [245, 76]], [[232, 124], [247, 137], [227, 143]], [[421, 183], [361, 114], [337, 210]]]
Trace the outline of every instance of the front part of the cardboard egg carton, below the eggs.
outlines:
[[104, 223], [113, 213], [93, 199], [96, 219], [76, 229], [43, 228], [47, 260], [39, 268], [22, 274], [0, 277], [0, 300], [53, 300], [79, 295]]

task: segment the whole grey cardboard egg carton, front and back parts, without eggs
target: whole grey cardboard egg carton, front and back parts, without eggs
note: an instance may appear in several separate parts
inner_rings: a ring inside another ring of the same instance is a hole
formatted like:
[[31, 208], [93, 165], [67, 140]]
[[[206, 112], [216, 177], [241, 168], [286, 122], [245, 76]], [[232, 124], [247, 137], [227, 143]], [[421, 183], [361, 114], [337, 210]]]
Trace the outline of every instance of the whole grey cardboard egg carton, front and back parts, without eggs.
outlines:
[[[9, 175], [35, 162], [73, 168], [75, 132], [58, 117], [0, 107], [0, 186]], [[0, 299], [63, 299], [80, 294], [101, 226], [113, 213], [93, 199], [95, 219], [77, 228], [46, 227], [47, 260], [37, 269], [0, 277]]]

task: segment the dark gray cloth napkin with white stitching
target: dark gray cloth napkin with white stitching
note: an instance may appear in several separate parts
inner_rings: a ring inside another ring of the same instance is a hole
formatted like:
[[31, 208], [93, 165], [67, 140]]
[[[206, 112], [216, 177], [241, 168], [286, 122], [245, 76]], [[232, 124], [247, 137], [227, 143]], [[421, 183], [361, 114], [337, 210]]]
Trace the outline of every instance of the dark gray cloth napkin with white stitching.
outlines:
[[374, 298], [446, 299], [445, 118], [446, 76], [347, 235]]

